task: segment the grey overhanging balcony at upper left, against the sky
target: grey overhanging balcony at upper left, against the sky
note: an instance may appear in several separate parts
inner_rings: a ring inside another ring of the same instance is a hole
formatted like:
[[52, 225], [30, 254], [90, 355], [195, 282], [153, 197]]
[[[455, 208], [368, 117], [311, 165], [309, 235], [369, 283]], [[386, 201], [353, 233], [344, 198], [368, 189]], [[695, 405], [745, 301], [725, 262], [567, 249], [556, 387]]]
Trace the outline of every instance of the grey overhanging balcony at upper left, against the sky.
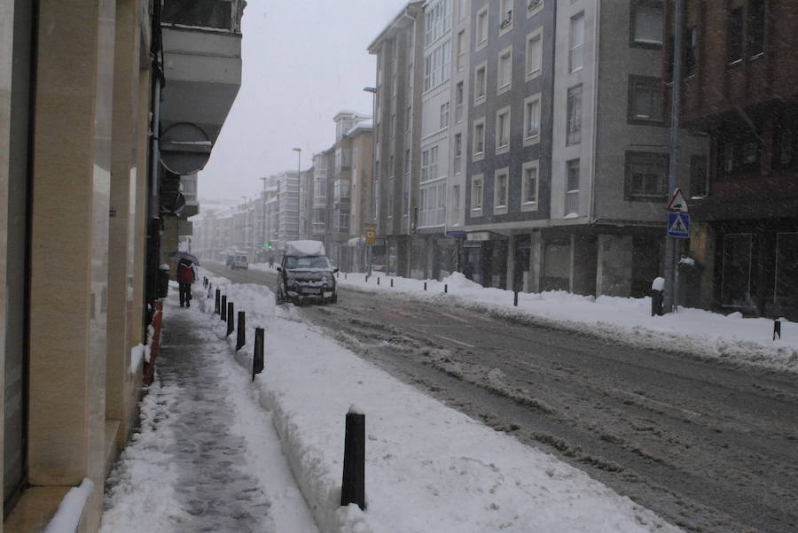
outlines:
[[161, 130], [188, 122], [212, 148], [241, 85], [243, 0], [164, 0]]

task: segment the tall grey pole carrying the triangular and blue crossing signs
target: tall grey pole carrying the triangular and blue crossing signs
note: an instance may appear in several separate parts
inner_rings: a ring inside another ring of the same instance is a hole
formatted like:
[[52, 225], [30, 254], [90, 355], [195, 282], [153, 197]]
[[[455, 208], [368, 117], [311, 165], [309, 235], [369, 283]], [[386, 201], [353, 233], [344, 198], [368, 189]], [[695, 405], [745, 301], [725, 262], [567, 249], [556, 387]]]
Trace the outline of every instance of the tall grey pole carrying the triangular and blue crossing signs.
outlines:
[[[668, 195], [673, 195], [678, 186], [679, 173], [679, 109], [682, 89], [682, 0], [676, 0], [673, 34], [673, 73], [670, 88], [670, 165], [668, 174]], [[678, 305], [677, 260], [681, 243], [673, 237], [665, 237], [665, 313], [675, 310]]]

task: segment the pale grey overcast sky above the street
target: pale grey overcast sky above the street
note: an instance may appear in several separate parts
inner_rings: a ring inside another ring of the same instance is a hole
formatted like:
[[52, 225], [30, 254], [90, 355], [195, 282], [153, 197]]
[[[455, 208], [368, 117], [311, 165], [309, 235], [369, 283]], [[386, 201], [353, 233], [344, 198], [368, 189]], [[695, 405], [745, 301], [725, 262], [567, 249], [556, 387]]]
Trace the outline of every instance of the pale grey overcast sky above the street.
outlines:
[[372, 114], [366, 51], [405, 0], [247, 0], [239, 96], [199, 175], [204, 200], [240, 200], [261, 176], [308, 168], [335, 140], [342, 109]]

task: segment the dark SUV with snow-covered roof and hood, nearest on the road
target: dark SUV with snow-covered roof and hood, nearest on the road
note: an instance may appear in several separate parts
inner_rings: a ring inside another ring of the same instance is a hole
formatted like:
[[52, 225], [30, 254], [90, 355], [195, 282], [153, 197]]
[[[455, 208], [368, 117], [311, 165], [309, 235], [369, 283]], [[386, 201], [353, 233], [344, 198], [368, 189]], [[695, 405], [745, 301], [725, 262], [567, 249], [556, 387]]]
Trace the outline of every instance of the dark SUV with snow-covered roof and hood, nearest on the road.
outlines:
[[278, 304], [338, 301], [334, 268], [325, 255], [325, 246], [318, 241], [289, 241], [278, 266]]

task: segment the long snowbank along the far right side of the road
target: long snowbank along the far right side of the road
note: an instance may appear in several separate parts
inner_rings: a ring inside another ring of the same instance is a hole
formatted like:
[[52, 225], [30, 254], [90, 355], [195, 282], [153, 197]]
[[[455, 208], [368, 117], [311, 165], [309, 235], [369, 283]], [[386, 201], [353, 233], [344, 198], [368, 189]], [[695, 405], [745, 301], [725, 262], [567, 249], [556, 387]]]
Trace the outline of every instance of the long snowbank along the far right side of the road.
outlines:
[[[592, 297], [563, 290], [520, 292], [518, 306], [514, 306], [512, 290], [482, 287], [459, 273], [440, 282], [383, 273], [368, 278], [365, 274], [340, 273], [337, 281], [348, 289], [381, 294], [387, 291], [397, 297], [459, 305], [512, 321], [713, 359], [732, 367], [755, 365], [798, 372], [798, 323], [784, 319], [780, 319], [782, 338], [774, 341], [770, 319], [743, 318], [741, 313], [732, 313], [729, 316], [739, 320], [729, 320], [724, 314], [687, 307], [680, 307], [678, 313], [651, 316], [650, 297]], [[661, 286], [659, 278], [654, 280], [653, 288]]]

